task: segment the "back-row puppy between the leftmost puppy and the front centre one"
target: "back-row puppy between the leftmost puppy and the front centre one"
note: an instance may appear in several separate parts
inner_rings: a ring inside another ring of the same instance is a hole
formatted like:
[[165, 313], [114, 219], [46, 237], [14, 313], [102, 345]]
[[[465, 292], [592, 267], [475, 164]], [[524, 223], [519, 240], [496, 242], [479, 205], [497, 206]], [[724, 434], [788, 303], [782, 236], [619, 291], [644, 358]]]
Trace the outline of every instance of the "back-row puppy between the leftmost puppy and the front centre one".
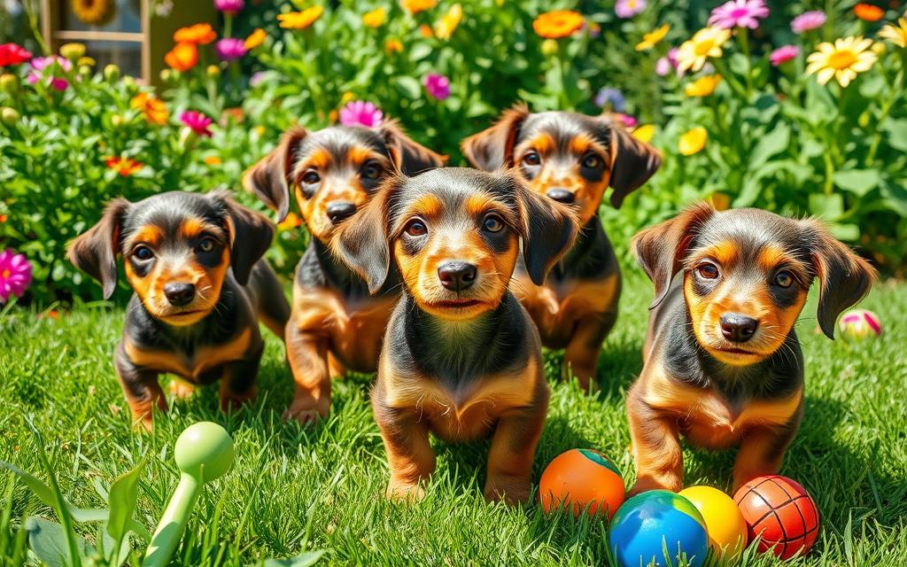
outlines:
[[243, 182], [274, 210], [288, 213], [290, 191], [311, 236], [299, 261], [287, 327], [287, 356], [296, 395], [285, 418], [307, 423], [331, 405], [331, 376], [346, 368], [374, 372], [387, 318], [399, 294], [392, 274], [375, 296], [336, 259], [329, 242], [337, 227], [370, 200], [388, 173], [414, 174], [442, 165], [393, 122], [376, 128], [295, 128], [247, 172]]

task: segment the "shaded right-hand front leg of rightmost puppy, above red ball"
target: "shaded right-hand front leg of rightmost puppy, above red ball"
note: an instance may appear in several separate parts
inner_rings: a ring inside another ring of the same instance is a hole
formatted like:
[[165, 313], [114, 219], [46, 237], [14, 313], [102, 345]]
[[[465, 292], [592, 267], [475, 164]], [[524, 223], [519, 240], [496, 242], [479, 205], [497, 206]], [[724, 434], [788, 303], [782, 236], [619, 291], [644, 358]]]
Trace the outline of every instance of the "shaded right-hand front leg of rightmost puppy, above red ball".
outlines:
[[781, 470], [787, 446], [794, 440], [800, 420], [803, 418], [803, 404], [785, 425], [762, 426], [746, 433], [740, 441], [734, 462], [734, 492], [757, 476], [777, 474]]

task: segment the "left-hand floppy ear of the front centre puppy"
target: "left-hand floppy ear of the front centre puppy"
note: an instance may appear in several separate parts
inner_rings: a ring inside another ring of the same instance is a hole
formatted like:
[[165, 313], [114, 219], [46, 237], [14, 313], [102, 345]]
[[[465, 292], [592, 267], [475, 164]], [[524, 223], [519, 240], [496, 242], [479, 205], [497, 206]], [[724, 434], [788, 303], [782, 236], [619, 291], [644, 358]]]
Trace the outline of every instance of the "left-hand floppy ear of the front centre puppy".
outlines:
[[337, 227], [331, 237], [331, 250], [366, 280], [372, 295], [384, 285], [390, 270], [388, 203], [403, 179], [399, 174], [388, 177], [366, 206]]

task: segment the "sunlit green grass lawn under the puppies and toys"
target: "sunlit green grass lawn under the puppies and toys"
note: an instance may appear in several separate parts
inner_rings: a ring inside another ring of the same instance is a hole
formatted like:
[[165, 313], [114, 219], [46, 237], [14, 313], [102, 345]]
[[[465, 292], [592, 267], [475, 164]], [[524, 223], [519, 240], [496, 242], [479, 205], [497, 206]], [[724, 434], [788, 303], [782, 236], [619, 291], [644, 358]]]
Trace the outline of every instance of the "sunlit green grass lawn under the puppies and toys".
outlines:
[[[585, 396], [551, 380], [548, 422], [535, 478], [555, 455], [595, 447], [632, 481], [623, 398], [639, 373], [651, 285], [636, 269], [621, 317], [605, 344], [601, 391]], [[804, 484], [822, 514], [814, 551], [789, 564], [892, 565], [907, 558], [907, 285], [885, 282], [863, 303], [886, 324], [882, 340], [851, 347], [815, 333], [814, 298], [798, 323], [806, 358], [804, 425], [782, 474]], [[268, 335], [258, 401], [234, 415], [217, 409], [216, 386], [171, 406], [151, 435], [132, 433], [112, 368], [122, 310], [80, 308], [60, 318], [13, 309], [0, 318], [0, 460], [43, 476], [25, 416], [44, 435], [63, 494], [102, 506], [93, 484], [152, 455], [142, 475], [138, 518], [153, 527], [177, 481], [172, 445], [199, 420], [225, 425], [237, 446], [234, 469], [201, 497], [175, 562], [247, 564], [326, 550], [320, 564], [602, 565], [604, 523], [543, 516], [538, 506], [484, 503], [487, 443], [435, 444], [438, 467], [424, 502], [388, 503], [385, 452], [368, 405], [368, 376], [337, 381], [327, 421], [280, 421], [292, 394], [283, 348]], [[547, 355], [549, 376], [560, 357]], [[688, 484], [727, 489], [733, 452], [687, 449]], [[54, 519], [12, 474], [0, 473], [11, 508], [0, 509], [0, 564], [21, 551], [16, 526], [30, 513]], [[89, 530], [88, 536], [94, 532]], [[771, 565], [747, 555], [748, 565]]]

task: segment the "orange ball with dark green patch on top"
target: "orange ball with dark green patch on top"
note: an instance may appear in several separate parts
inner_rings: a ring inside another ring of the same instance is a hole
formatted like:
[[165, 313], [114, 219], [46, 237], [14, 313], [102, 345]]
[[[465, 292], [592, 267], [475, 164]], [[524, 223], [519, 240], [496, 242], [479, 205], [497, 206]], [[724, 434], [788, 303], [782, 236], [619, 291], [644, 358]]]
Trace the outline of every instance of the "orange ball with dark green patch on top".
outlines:
[[617, 512], [627, 497], [623, 478], [610, 460], [592, 449], [571, 449], [554, 457], [539, 481], [541, 509], [545, 513], [571, 506], [579, 517]]

